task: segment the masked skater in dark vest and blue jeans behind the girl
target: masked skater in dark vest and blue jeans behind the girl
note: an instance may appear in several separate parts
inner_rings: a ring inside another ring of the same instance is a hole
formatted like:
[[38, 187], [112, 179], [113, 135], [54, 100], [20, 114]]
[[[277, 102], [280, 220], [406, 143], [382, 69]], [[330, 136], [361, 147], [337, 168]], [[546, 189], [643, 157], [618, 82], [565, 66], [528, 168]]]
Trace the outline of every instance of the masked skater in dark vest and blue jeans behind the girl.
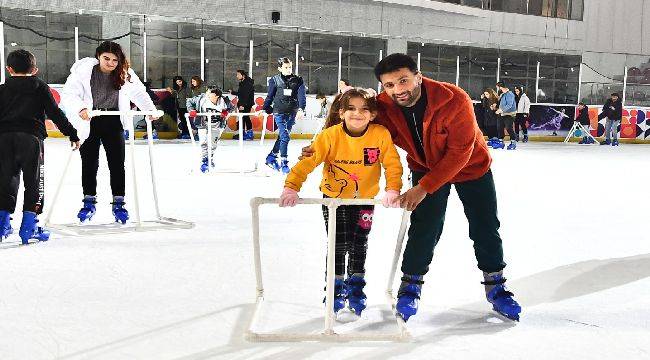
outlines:
[[288, 174], [287, 148], [291, 140], [291, 128], [296, 120], [301, 120], [305, 115], [307, 98], [305, 83], [300, 76], [293, 74], [293, 65], [289, 58], [278, 59], [278, 71], [279, 74], [269, 79], [269, 92], [263, 107], [267, 114], [273, 114], [273, 120], [278, 127], [278, 138], [265, 163], [276, 171]]

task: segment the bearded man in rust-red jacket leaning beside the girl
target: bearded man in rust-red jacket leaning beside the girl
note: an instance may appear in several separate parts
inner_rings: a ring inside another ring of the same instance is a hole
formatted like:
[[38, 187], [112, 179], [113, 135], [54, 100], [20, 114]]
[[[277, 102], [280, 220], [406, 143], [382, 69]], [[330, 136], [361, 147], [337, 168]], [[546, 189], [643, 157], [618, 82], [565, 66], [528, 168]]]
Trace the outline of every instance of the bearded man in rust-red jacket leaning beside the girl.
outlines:
[[[440, 239], [447, 198], [454, 185], [463, 203], [474, 241], [485, 293], [493, 309], [519, 320], [521, 307], [505, 287], [497, 196], [483, 134], [472, 101], [461, 88], [422, 76], [415, 61], [391, 54], [375, 67], [384, 88], [378, 96], [376, 123], [386, 127], [395, 145], [407, 152], [413, 187], [399, 198], [413, 211], [402, 260], [396, 310], [404, 320], [418, 309], [423, 276]], [[311, 149], [303, 149], [309, 156]]]

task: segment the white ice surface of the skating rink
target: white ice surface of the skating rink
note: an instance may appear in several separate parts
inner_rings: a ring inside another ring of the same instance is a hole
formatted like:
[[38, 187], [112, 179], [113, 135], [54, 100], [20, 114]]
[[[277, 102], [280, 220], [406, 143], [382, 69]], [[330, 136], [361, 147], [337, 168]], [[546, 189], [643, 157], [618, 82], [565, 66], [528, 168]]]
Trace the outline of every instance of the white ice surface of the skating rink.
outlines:
[[[292, 141], [290, 154], [295, 158], [304, 144]], [[63, 139], [46, 141], [46, 209], [67, 146]], [[225, 141], [217, 166], [252, 166], [261, 152], [257, 143], [246, 146], [242, 160], [236, 143]], [[143, 219], [153, 218], [147, 147], [136, 149]], [[161, 211], [195, 228], [53, 234], [30, 246], [17, 246], [12, 235], [0, 244], [0, 358], [650, 358], [650, 146], [528, 143], [491, 152], [506, 277], [523, 307], [519, 323], [496, 316], [485, 301], [467, 222], [452, 191], [420, 311], [407, 324], [412, 341], [246, 341], [255, 300], [249, 200], [279, 196], [284, 178], [204, 175], [189, 143], [160, 143]], [[103, 153], [101, 161], [96, 223], [112, 218]], [[52, 218], [57, 223], [73, 222], [81, 206], [77, 154], [70, 166]], [[301, 196], [320, 197], [319, 181], [320, 169]], [[130, 184], [127, 170], [126, 202], [133, 212]], [[366, 267], [369, 309], [335, 330], [394, 330], [383, 290], [400, 215], [377, 209]], [[20, 217], [14, 215], [14, 228]], [[261, 230], [267, 304], [259, 330], [318, 332], [326, 245], [319, 206], [265, 205]]]

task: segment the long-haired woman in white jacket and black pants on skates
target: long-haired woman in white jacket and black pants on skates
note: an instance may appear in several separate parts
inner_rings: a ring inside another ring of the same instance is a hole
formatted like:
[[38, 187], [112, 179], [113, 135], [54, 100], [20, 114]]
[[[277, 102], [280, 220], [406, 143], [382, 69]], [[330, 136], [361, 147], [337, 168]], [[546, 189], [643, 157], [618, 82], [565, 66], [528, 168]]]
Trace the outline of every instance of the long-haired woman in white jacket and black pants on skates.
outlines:
[[[133, 121], [127, 116], [90, 118], [91, 110], [128, 111], [133, 102], [140, 110], [155, 111], [151, 98], [119, 44], [105, 41], [95, 50], [94, 58], [77, 60], [61, 92], [60, 106], [77, 129], [82, 141], [81, 183], [84, 199], [77, 217], [90, 220], [97, 203], [97, 169], [99, 146], [104, 145], [110, 170], [113, 193], [112, 210], [116, 222], [126, 223], [129, 213], [124, 208], [124, 127]], [[155, 120], [155, 117], [150, 117]]]

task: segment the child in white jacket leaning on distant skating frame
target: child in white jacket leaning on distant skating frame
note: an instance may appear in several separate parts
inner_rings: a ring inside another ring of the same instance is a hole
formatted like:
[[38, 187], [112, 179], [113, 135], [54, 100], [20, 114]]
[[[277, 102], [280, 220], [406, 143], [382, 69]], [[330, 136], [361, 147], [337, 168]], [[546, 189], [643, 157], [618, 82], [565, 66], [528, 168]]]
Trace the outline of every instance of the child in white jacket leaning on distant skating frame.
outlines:
[[[216, 85], [208, 86], [205, 93], [187, 99], [187, 110], [190, 118], [193, 119], [193, 126], [200, 129], [199, 139], [201, 141], [201, 172], [207, 172], [214, 167], [214, 151], [217, 149], [217, 142], [226, 128], [228, 112], [233, 110], [230, 100], [223, 96], [221, 89]], [[215, 113], [214, 116], [197, 116], [197, 113]], [[210, 157], [212, 164], [208, 166], [208, 126], [212, 127], [212, 146]]]

